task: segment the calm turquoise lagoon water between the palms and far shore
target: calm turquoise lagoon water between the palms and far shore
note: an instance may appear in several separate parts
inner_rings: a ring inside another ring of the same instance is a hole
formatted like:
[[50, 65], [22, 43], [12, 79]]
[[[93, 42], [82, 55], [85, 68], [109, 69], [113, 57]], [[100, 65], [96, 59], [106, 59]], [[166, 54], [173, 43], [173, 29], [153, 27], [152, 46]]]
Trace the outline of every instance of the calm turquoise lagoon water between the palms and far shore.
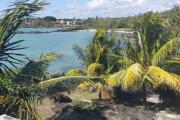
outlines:
[[[21, 31], [54, 31], [54, 28], [23, 28]], [[21, 45], [28, 47], [18, 51], [27, 57], [37, 58], [42, 53], [57, 52], [63, 53], [60, 60], [52, 62], [49, 72], [64, 72], [72, 68], [84, 68], [81, 61], [75, 55], [72, 46], [74, 44], [85, 47], [92, 40], [95, 33], [93, 32], [52, 32], [43, 34], [17, 34], [13, 38], [16, 40], [25, 40]]]

